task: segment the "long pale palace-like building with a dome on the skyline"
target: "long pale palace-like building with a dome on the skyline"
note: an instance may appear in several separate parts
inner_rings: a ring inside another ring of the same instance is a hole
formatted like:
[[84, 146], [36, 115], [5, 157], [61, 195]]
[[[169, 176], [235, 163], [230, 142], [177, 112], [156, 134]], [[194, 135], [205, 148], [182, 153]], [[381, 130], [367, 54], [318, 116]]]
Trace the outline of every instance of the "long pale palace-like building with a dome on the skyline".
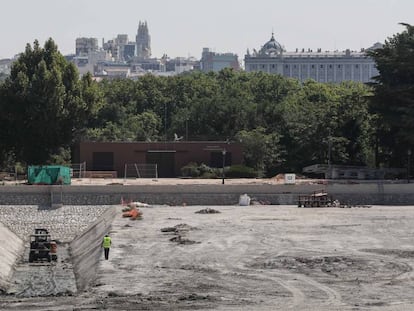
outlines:
[[[367, 50], [380, 48], [380, 43], [374, 44]], [[340, 83], [356, 81], [367, 83], [378, 75], [378, 70], [372, 58], [366, 51], [322, 51], [317, 49], [296, 49], [287, 52], [275, 40], [274, 34], [259, 51], [247, 51], [244, 57], [245, 70], [263, 71], [296, 78], [301, 82], [313, 79], [323, 83]]]

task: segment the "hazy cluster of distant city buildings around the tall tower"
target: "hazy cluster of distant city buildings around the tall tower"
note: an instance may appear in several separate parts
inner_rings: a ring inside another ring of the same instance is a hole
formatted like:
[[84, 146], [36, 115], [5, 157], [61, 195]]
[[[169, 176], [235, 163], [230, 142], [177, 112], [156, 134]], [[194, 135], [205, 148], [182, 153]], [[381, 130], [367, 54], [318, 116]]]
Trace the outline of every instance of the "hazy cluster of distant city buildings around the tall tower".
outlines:
[[201, 61], [194, 57], [161, 58], [151, 56], [151, 36], [148, 23], [139, 21], [135, 41], [128, 35], [118, 34], [98, 47], [96, 38], [77, 38], [76, 55], [71, 57], [80, 74], [91, 72], [100, 78], [139, 78], [151, 73], [172, 76], [186, 71], [220, 71], [223, 68], [240, 69], [238, 56], [233, 53], [216, 53], [204, 48]]

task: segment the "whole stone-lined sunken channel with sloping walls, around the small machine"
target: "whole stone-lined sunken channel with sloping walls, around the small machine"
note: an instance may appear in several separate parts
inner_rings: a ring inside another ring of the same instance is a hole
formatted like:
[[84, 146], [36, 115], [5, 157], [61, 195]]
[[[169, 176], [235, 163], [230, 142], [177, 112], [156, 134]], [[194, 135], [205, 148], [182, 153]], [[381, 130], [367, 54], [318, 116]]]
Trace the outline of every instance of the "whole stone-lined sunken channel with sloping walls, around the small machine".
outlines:
[[[114, 215], [112, 206], [0, 206], [0, 289], [21, 297], [83, 289], [92, 278], [82, 273], [98, 261], [100, 239]], [[28, 263], [29, 237], [35, 228], [47, 229], [57, 241], [56, 263]]]

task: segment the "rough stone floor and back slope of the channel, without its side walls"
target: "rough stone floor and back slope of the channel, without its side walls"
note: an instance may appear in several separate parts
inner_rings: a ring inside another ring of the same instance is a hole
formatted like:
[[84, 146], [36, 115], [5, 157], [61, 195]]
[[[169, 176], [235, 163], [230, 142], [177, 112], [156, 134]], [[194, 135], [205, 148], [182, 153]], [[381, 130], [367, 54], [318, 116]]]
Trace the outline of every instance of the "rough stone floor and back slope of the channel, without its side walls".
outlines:
[[[25, 243], [7, 294], [15, 297], [71, 296], [76, 294], [69, 243], [97, 220], [108, 206], [0, 206], [0, 221]], [[29, 237], [35, 228], [46, 228], [57, 241], [56, 262], [29, 263]]]

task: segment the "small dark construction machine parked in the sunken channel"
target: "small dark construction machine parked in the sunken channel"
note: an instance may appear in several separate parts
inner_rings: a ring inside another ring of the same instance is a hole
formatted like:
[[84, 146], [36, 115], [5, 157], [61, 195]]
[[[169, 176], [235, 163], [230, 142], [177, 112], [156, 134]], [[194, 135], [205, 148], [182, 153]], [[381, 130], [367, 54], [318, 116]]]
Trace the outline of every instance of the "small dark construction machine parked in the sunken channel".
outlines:
[[47, 229], [35, 229], [30, 235], [29, 262], [57, 260], [57, 244], [51, 239]]

